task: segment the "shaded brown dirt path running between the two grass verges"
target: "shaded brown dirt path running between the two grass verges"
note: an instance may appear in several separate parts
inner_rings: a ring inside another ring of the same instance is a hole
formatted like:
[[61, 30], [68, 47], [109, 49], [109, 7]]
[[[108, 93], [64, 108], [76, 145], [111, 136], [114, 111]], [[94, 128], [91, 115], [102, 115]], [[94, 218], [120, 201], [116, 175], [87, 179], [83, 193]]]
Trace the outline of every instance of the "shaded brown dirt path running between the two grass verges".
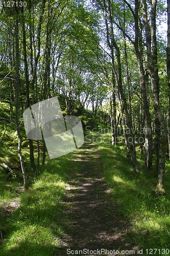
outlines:
[[[76, 168], [76, 173], [75, 173]], [[100, 150], [95, 142], [86, 143], [73, 153], [72, 170], [63, 202], [68, 210], [63, 212], [69, 226], [60, 241], [55, 255], [99, 255], [94, 250], [131, 250], [131, 244], [125, 241], [128, 223], [113, 205], [109, 190], [102, 174]], [[76, 250], [84, 248], [93, 253]], [[69, 250], [67, 250], [69, 249]], [[73, 251], [71, 252], [73, 253]], [[122, 255], [117, 252], [100, 255]], [[130, 255], [128, 253], [124, 255]]]

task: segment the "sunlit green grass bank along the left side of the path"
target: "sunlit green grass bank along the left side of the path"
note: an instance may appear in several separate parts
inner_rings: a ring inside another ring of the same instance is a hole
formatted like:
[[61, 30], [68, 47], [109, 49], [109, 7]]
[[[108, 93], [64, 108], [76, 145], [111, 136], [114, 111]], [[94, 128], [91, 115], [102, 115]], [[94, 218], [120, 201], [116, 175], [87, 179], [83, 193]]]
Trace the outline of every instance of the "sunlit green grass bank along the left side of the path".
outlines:
[[[39, 167], [29, 191], [20, 196], [19, 208], [4, 222], [6, 232], [2, 231], [0, 255], [53, 255], [67, 225], [62, 200], [71, 157], [68, 154]], [[11, 200], [6, 190], [1, 197]]]

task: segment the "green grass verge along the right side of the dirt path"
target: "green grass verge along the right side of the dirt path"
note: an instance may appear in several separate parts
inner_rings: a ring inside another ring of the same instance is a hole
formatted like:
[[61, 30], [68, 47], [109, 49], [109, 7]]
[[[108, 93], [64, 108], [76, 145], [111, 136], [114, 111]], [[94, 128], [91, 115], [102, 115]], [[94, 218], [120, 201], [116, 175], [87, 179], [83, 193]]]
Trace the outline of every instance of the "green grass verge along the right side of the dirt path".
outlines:
[[127, 241], [143, 249], [170, 250], [169, 163], [165, 172], [166, 196], [152, 196], [152, 190], [157, 184], [157, 177], [154, 177], [153, 172], [146, 170], [140, 160], [140, 173], [134, 173], [132, 164], [126, 159], [125, 146], [112, 146], [109, 144], [109, 134], [101, 136], [103, 139], [99, 148], [113, 204], [131, 225]]

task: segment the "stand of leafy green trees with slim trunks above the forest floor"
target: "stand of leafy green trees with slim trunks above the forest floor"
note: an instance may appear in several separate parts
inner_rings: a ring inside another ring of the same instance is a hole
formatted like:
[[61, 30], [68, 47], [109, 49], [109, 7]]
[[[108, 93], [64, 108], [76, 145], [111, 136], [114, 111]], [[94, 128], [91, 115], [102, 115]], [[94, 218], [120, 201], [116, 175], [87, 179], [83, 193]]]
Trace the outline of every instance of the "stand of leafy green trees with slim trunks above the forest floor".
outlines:
[[[58, 96], [63, 114], [81, 116], [84, 127], [90, 124], [92, 129], [96, 120], [103, 118], [105, 123], [107, 117], [113, 145], [123, 129], [127, 157], [136, 172], [138, 142], [145, 168], [155, 169], [157, 190], [163, 193], [167, 134], [170, 144], [169, 17], [167, 47], [159, 28], [169, 14], [166, 3], [24, 3], [4, 0], [0, 6], [0, 96], [9, 106], [10, 121], [16, 124], [21, 166], [21, 142], [26, 137], [23, 111]], [[144, 131], [142, 135], [140, 131]], [[29, 141], [29, 150], [35, 170], [40, 160], [45, 161], [45, 144]], [[22, 173], [25, 175], [25, 170]]]

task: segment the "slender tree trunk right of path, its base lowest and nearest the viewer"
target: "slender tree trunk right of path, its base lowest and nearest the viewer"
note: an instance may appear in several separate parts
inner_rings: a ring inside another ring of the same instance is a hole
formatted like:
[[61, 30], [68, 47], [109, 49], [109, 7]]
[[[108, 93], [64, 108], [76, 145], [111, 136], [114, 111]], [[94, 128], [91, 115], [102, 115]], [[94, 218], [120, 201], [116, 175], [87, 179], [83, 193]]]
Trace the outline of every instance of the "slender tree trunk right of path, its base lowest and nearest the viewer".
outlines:
[[160, 122], [160, 147], [159, 147], [159, 169], [158, 169], [158, 184], [156, 192], [158, 194], [164, 194], [163, 178], [165, 170], [165, 156], [167, 151], [167, 126], [164, 116], [161, 111], [159, 102], [159, 75], [158, 75], [158, 63], [157, 63], [157, 40], [156, 40], [156, 6], [157, 0], [152, 1], [151, 5], [151, 27], [148, 19], [147, 3], [146, 0], [142, 0], [143, 3], [143, 20], [145, 27], [145, 35], [147, 40], [147, 65], [148, 71], [151, 77], [152, 92], [154, 97], [154, 110], [158, 116]]

